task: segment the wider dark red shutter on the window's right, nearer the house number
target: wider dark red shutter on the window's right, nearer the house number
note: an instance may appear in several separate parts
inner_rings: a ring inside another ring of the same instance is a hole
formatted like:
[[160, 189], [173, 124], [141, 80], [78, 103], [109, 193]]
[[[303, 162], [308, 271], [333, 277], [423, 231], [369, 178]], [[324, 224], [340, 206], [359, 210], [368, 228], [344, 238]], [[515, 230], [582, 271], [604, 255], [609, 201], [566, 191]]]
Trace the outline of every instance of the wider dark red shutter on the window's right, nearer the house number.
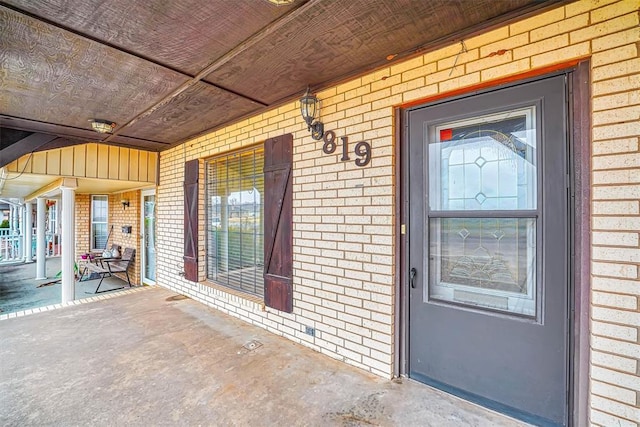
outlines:
[[264, 302], [293, 311], [293, 136], [264, 147]]

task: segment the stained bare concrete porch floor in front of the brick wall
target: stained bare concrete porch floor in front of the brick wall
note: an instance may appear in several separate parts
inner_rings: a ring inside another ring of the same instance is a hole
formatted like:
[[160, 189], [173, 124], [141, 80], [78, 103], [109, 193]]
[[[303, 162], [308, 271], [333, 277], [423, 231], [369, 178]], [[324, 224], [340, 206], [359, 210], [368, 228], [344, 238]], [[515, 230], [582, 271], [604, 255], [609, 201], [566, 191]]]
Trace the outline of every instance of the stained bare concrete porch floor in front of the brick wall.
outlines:
[[0, 425], [526, 425], [160, 287], [1, 320], [0, 343]]

